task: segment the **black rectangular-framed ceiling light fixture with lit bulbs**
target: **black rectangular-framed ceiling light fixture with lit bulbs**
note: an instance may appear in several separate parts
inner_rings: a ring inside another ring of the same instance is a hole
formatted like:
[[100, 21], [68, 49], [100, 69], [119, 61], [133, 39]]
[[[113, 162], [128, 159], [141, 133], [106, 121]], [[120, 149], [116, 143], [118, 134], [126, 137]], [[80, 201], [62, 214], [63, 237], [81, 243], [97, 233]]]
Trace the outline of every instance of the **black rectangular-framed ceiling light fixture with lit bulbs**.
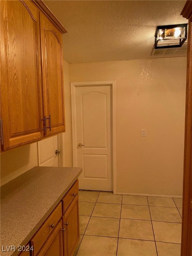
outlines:
[[181, 47], [187, 39], [187, 25], [158, 26], [155, 32], [155, 49]]

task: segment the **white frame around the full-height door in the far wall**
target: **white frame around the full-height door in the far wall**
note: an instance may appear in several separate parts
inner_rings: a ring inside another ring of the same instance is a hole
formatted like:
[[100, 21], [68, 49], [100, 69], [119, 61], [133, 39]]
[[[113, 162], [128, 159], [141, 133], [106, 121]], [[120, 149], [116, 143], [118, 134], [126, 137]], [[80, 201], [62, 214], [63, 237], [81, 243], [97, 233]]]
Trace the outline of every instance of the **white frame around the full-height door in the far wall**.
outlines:
[[73, 145], [73, 166], [77, 166], [77, 124], [76, 124], [76, 104], [75, 87], [77, 86], [99, 86], [110, 85], [112, 88], [112, 168], [113, 168], [113, 193], [117, 193], [117, 173], [116, 173], [116, 90], [115, 81], [96, 82], [71, 82], [71, 118], [72, 118], [72, 145]]

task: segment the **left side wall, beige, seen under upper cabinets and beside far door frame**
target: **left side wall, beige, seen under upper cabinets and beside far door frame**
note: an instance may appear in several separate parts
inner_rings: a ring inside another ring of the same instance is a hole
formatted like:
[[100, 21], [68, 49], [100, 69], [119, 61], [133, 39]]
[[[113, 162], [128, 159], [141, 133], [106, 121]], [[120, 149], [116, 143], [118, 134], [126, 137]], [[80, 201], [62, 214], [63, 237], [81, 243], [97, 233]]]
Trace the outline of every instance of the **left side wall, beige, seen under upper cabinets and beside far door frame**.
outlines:
[[[66, 133], [63, 133], [64, 166], [72, 166], [71, 137], [71, 95], [69, 82], [69, 64], [64, 61], [64, 94]], [[22, 173], [38, 165], [37, 143], [25, 145], [0, 155], [1, 185], [16, 178]]]

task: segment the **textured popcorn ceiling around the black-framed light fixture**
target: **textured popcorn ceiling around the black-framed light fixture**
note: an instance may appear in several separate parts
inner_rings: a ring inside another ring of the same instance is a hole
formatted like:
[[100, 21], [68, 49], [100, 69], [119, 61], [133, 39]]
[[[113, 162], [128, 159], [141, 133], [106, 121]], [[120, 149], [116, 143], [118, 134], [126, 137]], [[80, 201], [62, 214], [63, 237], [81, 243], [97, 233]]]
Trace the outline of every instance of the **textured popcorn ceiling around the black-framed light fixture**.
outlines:
[[44, 2], [68, 32], [63, 55], [69, 63], [154, 58], [156, 26], [187, 23], [180, 15], [186, 1]]

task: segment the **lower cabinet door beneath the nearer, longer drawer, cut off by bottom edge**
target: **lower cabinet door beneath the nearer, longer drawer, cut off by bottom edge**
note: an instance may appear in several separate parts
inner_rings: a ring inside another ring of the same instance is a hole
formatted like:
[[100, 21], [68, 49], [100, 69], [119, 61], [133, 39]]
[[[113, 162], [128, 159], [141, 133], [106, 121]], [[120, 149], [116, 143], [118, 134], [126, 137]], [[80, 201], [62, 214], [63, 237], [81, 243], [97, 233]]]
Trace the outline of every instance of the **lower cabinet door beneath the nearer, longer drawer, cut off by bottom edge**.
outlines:
[[62, 221], [55, 227], [38, 256], [63, 256], [63, 231], [61, 229]]

